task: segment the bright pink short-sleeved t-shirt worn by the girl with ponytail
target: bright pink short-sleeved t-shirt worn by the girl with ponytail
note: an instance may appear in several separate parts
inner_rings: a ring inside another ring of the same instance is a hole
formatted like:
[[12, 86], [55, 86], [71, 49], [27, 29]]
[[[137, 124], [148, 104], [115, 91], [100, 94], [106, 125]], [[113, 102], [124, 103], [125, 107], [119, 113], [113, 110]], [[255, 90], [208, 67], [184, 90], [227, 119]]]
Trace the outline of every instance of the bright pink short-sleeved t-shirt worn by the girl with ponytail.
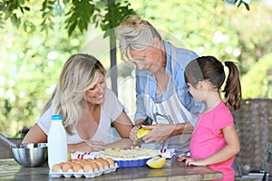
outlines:
[[[226, 146], [225, 138], [220, 129], [234, 126], [233, 117], [226, 104], [222, 101], [219, 105], [207, 113], [199, 114], [196, 127], [193, 131], [189, 150], [190, 157], [205, 158], [215, 154]], [[231, 168], [234, 157], [228, 160], [209, 165], [212, 169], [223, 173], [223, 180], [234, 180], [235, 172]]]

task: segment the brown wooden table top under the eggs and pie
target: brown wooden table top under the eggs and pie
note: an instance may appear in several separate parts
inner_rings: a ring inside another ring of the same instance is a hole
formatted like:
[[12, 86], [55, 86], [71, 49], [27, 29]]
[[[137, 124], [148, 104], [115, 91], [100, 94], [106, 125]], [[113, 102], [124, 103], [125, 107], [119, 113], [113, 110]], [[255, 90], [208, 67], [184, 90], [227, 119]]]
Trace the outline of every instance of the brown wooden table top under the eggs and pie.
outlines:
[[177, 161], [175, 157], [168, 159], [166, 165], [161, 169], [150, 167], [118, 168], [116, 172], [104, 174], [94, 178], [53, 178], [49, 174], [49, 168], [45, 163], [42, 167], [21, 167], [13, 158], [0, 159], [1, 180], [211, 180], [222, 178], [218, 171], [208, 167], [186, 167], [184, 163]]

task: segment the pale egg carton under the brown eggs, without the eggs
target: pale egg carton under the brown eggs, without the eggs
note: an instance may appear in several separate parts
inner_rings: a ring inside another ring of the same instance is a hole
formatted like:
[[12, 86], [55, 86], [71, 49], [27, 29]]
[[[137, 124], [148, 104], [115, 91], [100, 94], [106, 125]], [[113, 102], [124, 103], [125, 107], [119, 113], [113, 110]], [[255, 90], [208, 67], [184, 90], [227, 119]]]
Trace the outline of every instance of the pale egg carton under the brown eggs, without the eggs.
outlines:
[[116, 168], [118, 167], [118, 165], [115, 163], [114, 166], [105, 166], [105, 167], [100, 167], [99, 169], [94, 168], [93, 170], [90, 170], [89, 172], [84, 172], [83, 169], [79, 169], [78, 172], [73, 172], [73, 169], [69, 169], [67, 172], [63, 172], [62, 169], [59, 169], [57, 172], [53, 172], [52, 170], [50, 170], [49, 175], [52, 177], [86, 177], [86, 178], [92, 178], [95, 176], [101, 176], [102, 174], [109, 174], [112, 172], [116, 171]]

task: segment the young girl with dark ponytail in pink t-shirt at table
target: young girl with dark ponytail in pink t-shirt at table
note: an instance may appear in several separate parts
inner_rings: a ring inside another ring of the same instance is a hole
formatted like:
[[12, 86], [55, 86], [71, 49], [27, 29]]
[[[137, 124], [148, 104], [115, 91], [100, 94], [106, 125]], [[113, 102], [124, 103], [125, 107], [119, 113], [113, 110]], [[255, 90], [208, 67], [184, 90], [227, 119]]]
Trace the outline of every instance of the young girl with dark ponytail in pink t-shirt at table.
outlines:
[[[228, 79], [220, 98], [220, 88], [225, 81], [224, 69], [228, 67]], [[234, 180], [231, 168], [239, 151], [238, 134], [227, 104], [238, 110], [241, 86], [238, 68], [233, 62], [219, 62], [215, 57], [203, 56], [189, 62], [185, 69], [189, 93], [196, 101], [206, 103], [199, 114], [190, 140], [190, 157], [179, 157], [187, 166], [205, 166], [223, 173], [223, 180]]]

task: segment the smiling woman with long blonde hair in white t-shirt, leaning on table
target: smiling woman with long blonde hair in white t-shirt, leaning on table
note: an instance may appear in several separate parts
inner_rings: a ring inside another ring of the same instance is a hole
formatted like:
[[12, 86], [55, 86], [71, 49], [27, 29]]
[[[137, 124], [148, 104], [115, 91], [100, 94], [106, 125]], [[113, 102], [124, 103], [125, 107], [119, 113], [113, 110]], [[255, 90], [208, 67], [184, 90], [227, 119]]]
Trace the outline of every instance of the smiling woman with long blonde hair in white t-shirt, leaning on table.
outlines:
[[[101, 62], [91, 55], [74, 54], [64, 64], [42, 117], [29, 130], [23, 143], [46, 142], [53, 114], [63, 116], [71, 153], [131, 148], [131, 119], [113, 91], [107, 89]], [[113, 143], [110, 143], [111, 124], [121, 136]]]

